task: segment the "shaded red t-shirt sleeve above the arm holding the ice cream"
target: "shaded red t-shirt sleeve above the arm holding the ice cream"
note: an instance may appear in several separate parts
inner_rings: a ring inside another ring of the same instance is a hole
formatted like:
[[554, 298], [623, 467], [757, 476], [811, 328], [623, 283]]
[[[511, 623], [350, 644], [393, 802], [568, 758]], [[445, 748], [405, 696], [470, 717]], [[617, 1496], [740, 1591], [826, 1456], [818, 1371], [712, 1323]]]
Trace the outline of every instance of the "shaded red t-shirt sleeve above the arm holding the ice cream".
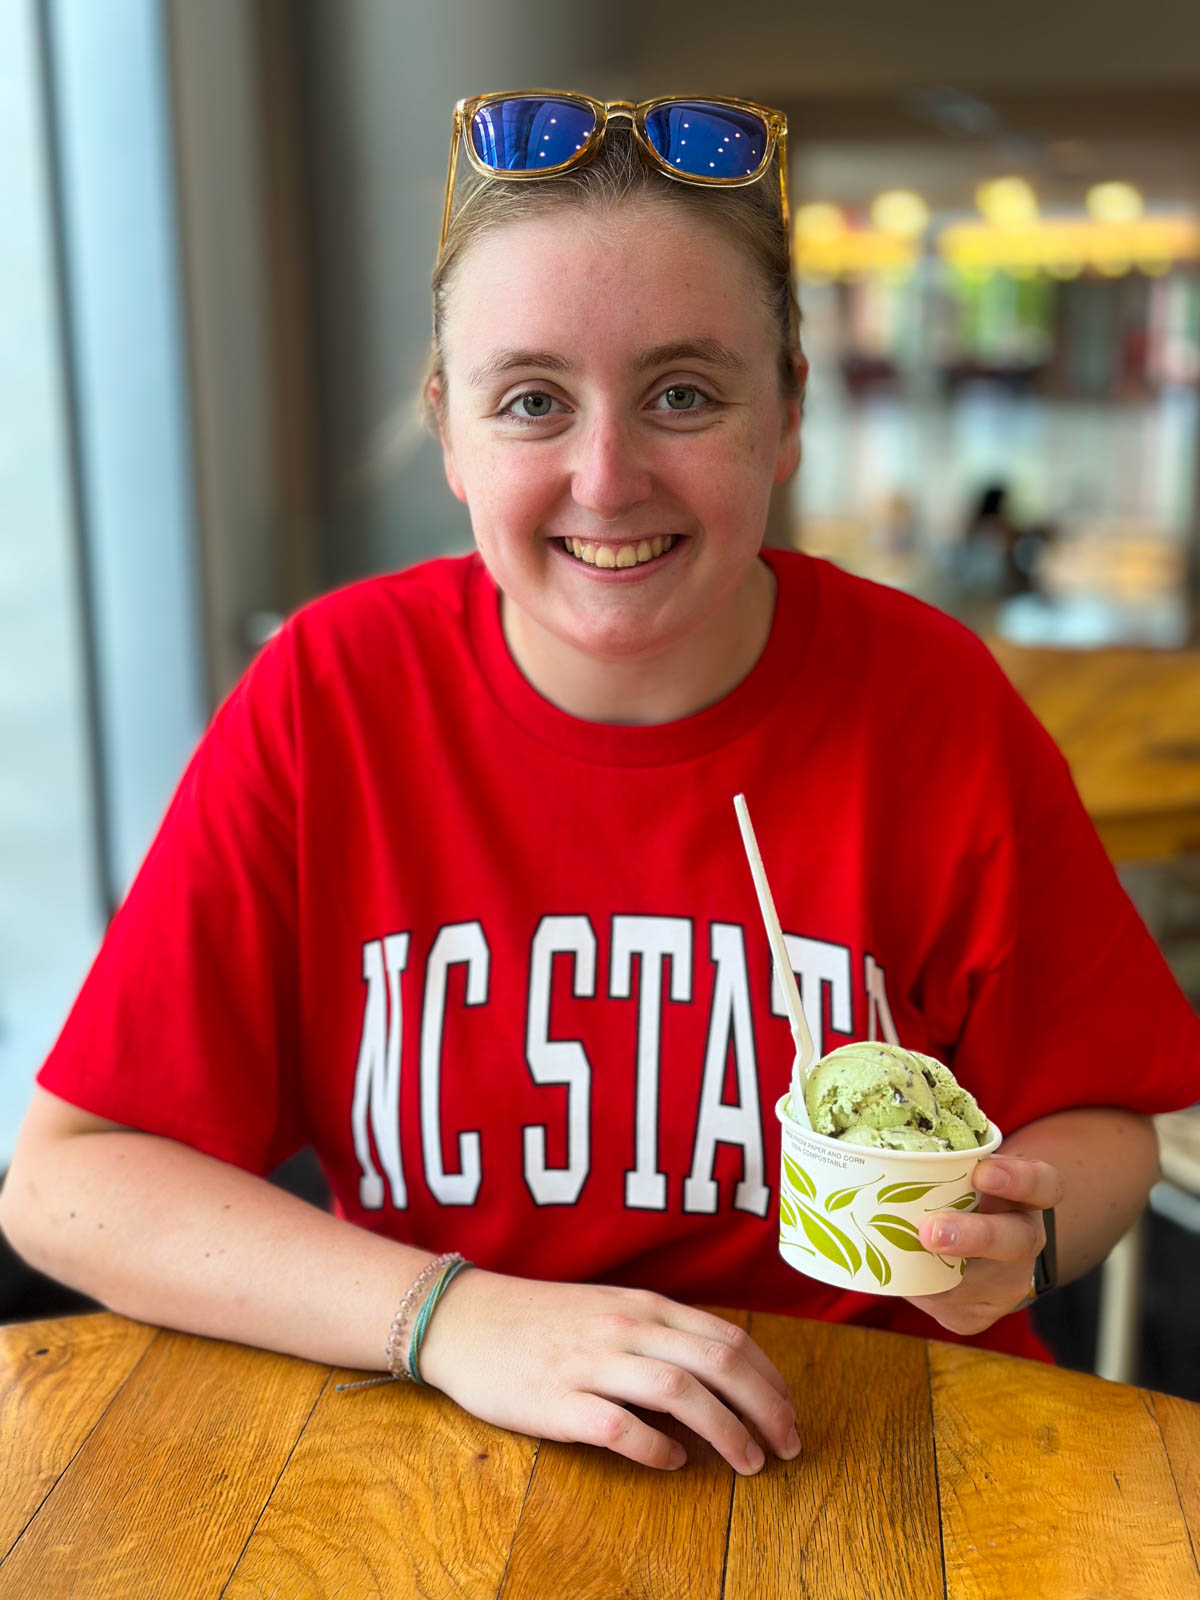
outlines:
[[[1080, 1106], [1200, 1099], [1200, 1019], [1122, 888], [1067, 763], [1013, 694], [1002, 714], [1016, 829], [978, 890], [1006, 928], [973, 978], [952, 1059], [1005, 1133]], [[995, 1109], [994, 1109], [995, 1107]]]

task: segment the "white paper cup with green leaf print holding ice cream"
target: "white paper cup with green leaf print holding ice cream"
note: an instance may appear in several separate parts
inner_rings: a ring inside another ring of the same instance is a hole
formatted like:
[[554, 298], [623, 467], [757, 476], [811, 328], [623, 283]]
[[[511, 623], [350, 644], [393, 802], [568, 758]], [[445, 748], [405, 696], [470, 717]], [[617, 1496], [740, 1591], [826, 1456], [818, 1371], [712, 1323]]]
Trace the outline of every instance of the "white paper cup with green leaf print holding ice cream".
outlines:
[[917, 1229], [933, 1211], [974, 1211], [974, 1163], [1000, 1144], [987, 1123], [976, 1150], [880, 1150], [813, 1133], [776, 1104], [782, 1131], [779, 1254], [797, 1272], [859, 1294], [941, 1294], [966, 1264], [928, 1251]]

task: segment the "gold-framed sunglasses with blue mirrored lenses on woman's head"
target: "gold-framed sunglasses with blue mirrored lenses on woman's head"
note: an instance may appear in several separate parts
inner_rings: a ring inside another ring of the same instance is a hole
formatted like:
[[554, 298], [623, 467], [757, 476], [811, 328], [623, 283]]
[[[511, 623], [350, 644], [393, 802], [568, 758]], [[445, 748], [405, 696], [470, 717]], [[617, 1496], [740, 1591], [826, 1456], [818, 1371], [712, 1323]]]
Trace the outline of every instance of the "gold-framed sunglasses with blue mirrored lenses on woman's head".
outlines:
[[454, 107], [438, 254], [446, 243], [458, 152], [464, 144], [467, 160], [483, 178], [512, 182], [558, 178], [592, 160], [610, 118], [632, 123], [645, 160], [682, 184], [741, 189], [757, 182], [778, 152], [779, 206], [787, 237], [787, 118], [782, 112], [742, 99], [659, 96], [635, 104], [528, 90], [475, 94]]

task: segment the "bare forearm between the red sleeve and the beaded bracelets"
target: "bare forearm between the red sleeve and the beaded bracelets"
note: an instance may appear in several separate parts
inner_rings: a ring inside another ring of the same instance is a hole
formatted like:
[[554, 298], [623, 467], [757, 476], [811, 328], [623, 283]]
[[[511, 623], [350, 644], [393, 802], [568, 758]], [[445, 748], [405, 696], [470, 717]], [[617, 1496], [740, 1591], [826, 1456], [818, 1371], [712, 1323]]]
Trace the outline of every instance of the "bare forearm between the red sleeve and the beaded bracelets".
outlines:
[[83, 1133], [16, 1158], [14, 1248], [141, 1322], [381, 1370], [429, 1251], [378, 1238], [170, 1139]]

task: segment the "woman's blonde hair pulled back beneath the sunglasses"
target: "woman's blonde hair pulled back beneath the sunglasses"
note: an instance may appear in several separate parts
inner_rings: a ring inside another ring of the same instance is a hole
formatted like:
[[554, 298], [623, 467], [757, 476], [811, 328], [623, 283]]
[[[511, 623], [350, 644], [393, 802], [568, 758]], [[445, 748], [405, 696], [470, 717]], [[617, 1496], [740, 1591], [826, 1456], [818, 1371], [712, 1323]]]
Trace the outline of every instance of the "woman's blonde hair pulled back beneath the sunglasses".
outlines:
[[[795, 355], [800, 350], [800, 306], [779, 214], [779, 178], [774, 166], [744, 189], [682, 184], [664, 178], [642, 160], [629, 130], [610, 126], [595, 160], [574, 166], [560, 178], [546, 182], [506, 182], [502, 178], [480, 178], [472, 171], [466, 181], [466, 192], [451, 214], [446, 243], [434, 269], [434, 347], [421, 386], [422, 413], [434, 432], [446, 395], [442, 344], [446, 298], [454, 270], [472, 245], [496, 227], [531, 216], [568, 206], [603, 213], [640, 200], [674, 205], [715, 224], [734, 248], [749, 256], [762, 282], [763, 306], [779, 330], [781, 390], [786, 395], [798, 394]], [[430, 395], [435, 381], [437, 405]]]

